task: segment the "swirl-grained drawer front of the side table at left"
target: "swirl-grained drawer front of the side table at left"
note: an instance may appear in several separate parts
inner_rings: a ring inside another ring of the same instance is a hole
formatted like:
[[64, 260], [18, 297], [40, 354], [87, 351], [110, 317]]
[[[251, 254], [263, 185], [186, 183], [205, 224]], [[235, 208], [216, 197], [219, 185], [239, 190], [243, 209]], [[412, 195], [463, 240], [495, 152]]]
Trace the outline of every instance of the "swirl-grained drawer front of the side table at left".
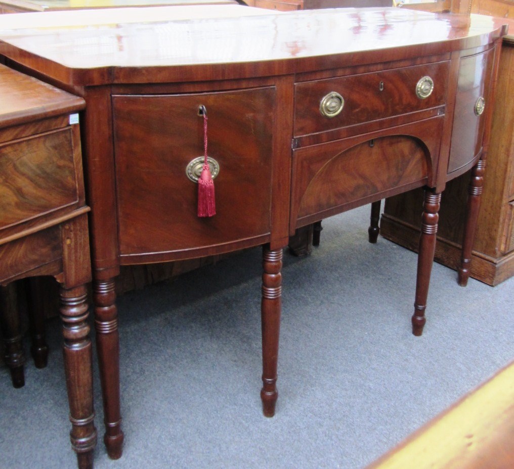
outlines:
[[0, 144], [0, 229], [78, 201], [70, 127]]

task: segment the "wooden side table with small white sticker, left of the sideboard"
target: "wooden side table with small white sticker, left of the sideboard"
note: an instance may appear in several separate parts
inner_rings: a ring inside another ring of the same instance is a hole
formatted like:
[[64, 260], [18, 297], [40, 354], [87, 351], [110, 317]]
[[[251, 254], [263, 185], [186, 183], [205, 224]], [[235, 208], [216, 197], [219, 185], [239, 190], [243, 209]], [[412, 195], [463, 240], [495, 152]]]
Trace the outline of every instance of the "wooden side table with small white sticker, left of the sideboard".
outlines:
[[[89, 208], [77, 114], [85, 103], [4, 65], [0, 96], [0, 285], [39, 275], [60, 283], [71, 445], [79, 467], [90, 466], [96, 429], [85, 286]], [[7, 332], [14, 336], [6, 362], [16, 367], [20, 334]]]

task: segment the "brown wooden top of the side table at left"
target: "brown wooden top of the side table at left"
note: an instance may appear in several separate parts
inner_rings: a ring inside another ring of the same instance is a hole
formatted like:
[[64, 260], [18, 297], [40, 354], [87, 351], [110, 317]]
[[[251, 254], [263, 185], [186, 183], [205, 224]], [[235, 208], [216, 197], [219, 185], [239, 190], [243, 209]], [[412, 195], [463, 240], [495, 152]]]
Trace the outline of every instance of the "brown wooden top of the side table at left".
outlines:
[[0, 64], [0, 128], [76, 112], [84, 100]]

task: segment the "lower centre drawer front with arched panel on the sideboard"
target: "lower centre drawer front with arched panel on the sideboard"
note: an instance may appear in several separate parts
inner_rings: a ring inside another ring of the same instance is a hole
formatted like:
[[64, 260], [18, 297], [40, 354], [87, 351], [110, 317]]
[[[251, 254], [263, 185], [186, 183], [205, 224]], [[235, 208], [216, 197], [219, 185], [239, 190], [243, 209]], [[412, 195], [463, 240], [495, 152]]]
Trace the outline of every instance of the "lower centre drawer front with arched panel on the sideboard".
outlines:
[[295, 150], [290, 226], [426, 184], [443, 119], [392, 129], [391, 135], [360, 143], [351, 138]]

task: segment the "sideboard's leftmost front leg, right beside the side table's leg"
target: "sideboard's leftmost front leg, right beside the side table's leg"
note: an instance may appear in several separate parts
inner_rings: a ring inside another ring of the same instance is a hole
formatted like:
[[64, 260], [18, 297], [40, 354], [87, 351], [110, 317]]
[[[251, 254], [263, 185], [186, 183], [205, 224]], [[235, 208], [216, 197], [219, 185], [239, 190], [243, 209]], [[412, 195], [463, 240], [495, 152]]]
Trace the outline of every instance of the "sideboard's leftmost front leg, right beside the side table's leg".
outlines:
[[104, 443], [111, 459], [121, 457], [123, 432], [120, 414], [120, 344], [114, 280], [94, 283], [95, 327], [98, 363], [102, 384], [105, 436]]

